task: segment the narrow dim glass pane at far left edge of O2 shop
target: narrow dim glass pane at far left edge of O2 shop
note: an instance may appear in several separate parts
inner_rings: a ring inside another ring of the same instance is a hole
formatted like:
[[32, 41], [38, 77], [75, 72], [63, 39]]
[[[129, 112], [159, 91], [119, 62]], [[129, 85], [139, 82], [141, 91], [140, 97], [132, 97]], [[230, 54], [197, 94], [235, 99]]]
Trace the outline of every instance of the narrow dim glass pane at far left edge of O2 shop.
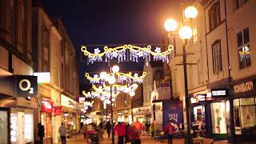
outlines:
[[8, 143], [8, 114], [7, 111], [0, 111], [0, 143]]

